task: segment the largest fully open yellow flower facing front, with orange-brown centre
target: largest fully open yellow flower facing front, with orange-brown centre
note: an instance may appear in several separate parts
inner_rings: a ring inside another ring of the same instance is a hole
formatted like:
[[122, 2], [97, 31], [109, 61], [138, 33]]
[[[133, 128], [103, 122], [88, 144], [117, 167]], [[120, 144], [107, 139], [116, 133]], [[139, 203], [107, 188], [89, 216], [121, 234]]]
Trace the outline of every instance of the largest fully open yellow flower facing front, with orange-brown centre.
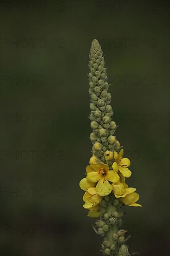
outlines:
[[109, 170], [109, 166], [100, 162], [98, 164], [88, 165], [86, 168], [87, 182], [97, 183], [96, 192], [98, 195], [109, 195], [112, 191], [110, 182], [118, 182], [119, 175], [113, 170]]

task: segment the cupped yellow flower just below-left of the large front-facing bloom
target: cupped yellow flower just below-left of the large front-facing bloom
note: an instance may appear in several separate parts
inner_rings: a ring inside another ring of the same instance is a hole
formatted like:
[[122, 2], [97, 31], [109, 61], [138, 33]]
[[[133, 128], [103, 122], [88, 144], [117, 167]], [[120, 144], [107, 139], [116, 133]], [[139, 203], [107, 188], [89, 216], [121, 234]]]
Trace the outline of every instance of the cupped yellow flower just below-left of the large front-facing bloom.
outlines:
[[83, 207], [89, 209], [96, 206], [101, 200], [102, 196], [97, 194], [96, 188], [89, 188], [83, 195], [83, 201], [85, 202]]

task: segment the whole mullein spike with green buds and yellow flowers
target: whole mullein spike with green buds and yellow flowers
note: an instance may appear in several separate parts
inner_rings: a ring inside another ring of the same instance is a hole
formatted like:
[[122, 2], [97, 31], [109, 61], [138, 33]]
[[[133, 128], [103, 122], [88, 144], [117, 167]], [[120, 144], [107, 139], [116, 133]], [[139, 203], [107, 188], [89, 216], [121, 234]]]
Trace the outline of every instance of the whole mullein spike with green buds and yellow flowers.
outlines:
[[130, 236], [121, 229], [124, 212], [122, 207], [141, 206], [135, 188], [128, 187], [126, 178], [131, 176], [128, 158], [114, 136], [117, 125], [112, 121], [111, 94], [105, 61], [98, 40], [92, 41], [89, 61], [89, 93], [91, 97], [89, 116], [92, 133], [92, 157], [86, 167], [86, 177], [79, 182], [85, 209], [89, 217], [99, 218], [93, 229], [103, 236], [101, 250], [104, 256], [130, 256], [126, 245]]

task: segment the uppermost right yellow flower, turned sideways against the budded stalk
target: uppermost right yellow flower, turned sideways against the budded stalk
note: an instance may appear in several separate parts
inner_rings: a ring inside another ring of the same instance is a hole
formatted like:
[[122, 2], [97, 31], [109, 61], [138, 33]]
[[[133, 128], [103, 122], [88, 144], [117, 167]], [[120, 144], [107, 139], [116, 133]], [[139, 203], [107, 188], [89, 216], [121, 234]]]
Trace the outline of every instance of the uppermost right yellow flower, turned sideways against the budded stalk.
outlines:
[[131, 171], [128, 169], [128, 167], [131, 165], [131, 162], [128, 158], [123, 158], [123, 154], [123, 149], [121, 149], [119, 153], [114, 151], [114, 159], [116, 162], [112, 164], [112, 168], [116, 173], [120, 171], [124, 177], [129, 178], [131, 176]]

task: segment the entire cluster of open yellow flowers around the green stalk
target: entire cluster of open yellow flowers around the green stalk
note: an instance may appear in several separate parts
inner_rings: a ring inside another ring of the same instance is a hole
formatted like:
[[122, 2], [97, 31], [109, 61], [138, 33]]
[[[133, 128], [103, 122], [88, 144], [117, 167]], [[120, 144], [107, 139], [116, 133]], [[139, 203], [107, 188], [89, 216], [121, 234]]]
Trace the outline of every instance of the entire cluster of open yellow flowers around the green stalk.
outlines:
[[[112, 152], [110, 152], [112, 153]], [[81, 189], [85, 190], [83, 207], [89, 209], [89, 216], [98, 217], [102, 214], [102, 199], [114, 194], [116, 198], [125, 205], [141, 206], [136, 203], [139, 195], [135, 192], [135, 188], [128, 187], [125, 183], [125, 178], [131, 176], [131, 171], [128, 168], [131, 164], [128, 158], [123, 157], [124, 150], [119, 153], [113, 152], [113, 163], [111, 168], [103, 162], [92, 156], [90, 165], [86, 167], [86, 177], [79, 182]], [[107, 158], [107, 157], [106, 157]]]

